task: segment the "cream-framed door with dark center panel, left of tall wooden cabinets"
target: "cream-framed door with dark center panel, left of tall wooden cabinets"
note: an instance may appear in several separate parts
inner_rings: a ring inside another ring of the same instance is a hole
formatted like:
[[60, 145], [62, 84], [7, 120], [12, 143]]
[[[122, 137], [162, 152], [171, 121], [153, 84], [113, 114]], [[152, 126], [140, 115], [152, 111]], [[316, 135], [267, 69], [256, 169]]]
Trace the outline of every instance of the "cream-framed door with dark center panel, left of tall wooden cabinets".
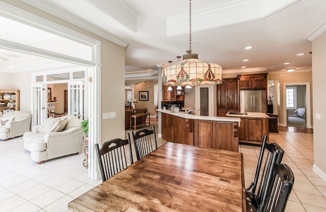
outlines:
[[214, 86], [196, 86], [196, 115], [214, 116]]

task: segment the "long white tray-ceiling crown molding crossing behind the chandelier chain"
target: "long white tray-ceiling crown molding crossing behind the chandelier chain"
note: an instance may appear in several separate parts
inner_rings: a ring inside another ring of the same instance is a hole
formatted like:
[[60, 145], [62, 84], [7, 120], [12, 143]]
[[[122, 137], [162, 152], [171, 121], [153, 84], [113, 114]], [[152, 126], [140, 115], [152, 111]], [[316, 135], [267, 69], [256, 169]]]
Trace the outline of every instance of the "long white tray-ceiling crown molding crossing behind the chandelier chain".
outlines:
[[[227, 3], [192, 12], [192, 23], [196, 28], [192, 32], [199, 32], [221, 26], [257, 20], [267, 17], [298, 0], [269, 0], [269, 1], [241, 1], [234, 0]], [[189, 31], [189, 14], [182, 14], [167, 18], [167, 37], [182, 35]], [[182, 24], [180, 24], [182, 23]]]

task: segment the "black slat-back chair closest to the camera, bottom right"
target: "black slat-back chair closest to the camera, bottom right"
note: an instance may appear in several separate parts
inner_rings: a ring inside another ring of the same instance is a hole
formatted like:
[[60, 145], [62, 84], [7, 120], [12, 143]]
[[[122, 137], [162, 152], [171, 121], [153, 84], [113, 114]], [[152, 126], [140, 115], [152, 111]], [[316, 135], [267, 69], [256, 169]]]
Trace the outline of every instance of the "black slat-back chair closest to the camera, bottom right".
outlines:
[[294, 183], [292, 170], [286, 164], [274, 163], [267, 181], [270, 189], [265, 190], [257, 211], [283, 212]]

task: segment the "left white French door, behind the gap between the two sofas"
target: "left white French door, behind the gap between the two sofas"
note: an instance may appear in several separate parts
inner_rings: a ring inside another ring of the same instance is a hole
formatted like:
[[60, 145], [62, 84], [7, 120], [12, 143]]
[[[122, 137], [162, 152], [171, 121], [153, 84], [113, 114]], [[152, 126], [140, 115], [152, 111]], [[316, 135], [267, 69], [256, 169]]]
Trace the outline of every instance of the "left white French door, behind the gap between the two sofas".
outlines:
[[32, 85], [32, 126], [43, 123], [47, 118], [47, 90], [45, 84]]

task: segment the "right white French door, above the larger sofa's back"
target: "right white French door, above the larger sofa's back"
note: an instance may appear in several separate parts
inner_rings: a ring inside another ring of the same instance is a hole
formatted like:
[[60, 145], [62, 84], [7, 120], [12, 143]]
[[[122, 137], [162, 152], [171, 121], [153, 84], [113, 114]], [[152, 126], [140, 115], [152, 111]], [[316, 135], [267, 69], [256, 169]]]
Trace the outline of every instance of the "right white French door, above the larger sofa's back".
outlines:
[[84, 120], [84, 81], [68, 83], [68, 114]]

